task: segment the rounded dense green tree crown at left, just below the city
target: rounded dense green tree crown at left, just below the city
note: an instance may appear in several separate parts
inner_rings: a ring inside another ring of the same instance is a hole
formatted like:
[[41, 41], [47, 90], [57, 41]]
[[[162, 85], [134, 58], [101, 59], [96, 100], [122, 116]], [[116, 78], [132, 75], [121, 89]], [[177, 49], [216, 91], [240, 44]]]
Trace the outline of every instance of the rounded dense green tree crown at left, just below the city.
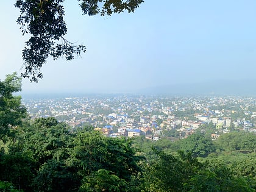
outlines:
[[58, 123], [54, 118], [40, 118], [22, 130], [18, 143], [40, 166], [52, 158], [67, 158], [72, 139], [65, 123]]

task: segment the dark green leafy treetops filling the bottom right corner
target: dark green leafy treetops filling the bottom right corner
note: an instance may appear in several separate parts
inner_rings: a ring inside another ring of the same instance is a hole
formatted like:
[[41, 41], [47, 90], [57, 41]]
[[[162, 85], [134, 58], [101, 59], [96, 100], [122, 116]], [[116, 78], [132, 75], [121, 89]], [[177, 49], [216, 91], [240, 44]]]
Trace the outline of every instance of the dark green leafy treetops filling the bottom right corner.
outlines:
[[157, 160], [144, 173], [146, 191], [255, 191], [252, 180], [233, 176], [221, 161], [199, 163], [191, 154], [155, 152]]

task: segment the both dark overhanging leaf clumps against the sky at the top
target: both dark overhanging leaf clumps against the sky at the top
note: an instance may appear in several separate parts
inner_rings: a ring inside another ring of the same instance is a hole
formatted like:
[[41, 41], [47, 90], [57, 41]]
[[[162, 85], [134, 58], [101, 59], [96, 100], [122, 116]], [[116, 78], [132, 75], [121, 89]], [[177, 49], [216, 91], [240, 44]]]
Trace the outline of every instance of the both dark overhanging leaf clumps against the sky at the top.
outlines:
[[[64, 38], [67, 33], [66, 23], [63, 19], [65, 0], [17, 0], [15, 6], [20, 9], [21, 15], [17, 23], [21, 25], [21, 32], [30, 34], [25, 43], [23, 60], [25, 72], [21, 75], [37, 82], [43, 77], [40, 68], [46, 63], [49, 56], [59, 59], [65, 57], [72, 60], [85, 46], [78, 46]], [[112, 15], [124, 10], [134, 12], [143, 0], [78, 0], [84, 15]]]

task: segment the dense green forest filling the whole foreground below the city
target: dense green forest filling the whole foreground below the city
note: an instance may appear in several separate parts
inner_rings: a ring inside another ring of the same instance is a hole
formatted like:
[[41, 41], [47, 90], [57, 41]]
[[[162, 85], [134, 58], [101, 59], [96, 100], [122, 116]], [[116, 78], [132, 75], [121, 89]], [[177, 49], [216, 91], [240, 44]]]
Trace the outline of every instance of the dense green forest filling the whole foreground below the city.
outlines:
[[0, 191], [255, 191], [256, 135], [213, 141], [110, 138], [92, 126], [29, 119], [21, 79], [0, 82]]

